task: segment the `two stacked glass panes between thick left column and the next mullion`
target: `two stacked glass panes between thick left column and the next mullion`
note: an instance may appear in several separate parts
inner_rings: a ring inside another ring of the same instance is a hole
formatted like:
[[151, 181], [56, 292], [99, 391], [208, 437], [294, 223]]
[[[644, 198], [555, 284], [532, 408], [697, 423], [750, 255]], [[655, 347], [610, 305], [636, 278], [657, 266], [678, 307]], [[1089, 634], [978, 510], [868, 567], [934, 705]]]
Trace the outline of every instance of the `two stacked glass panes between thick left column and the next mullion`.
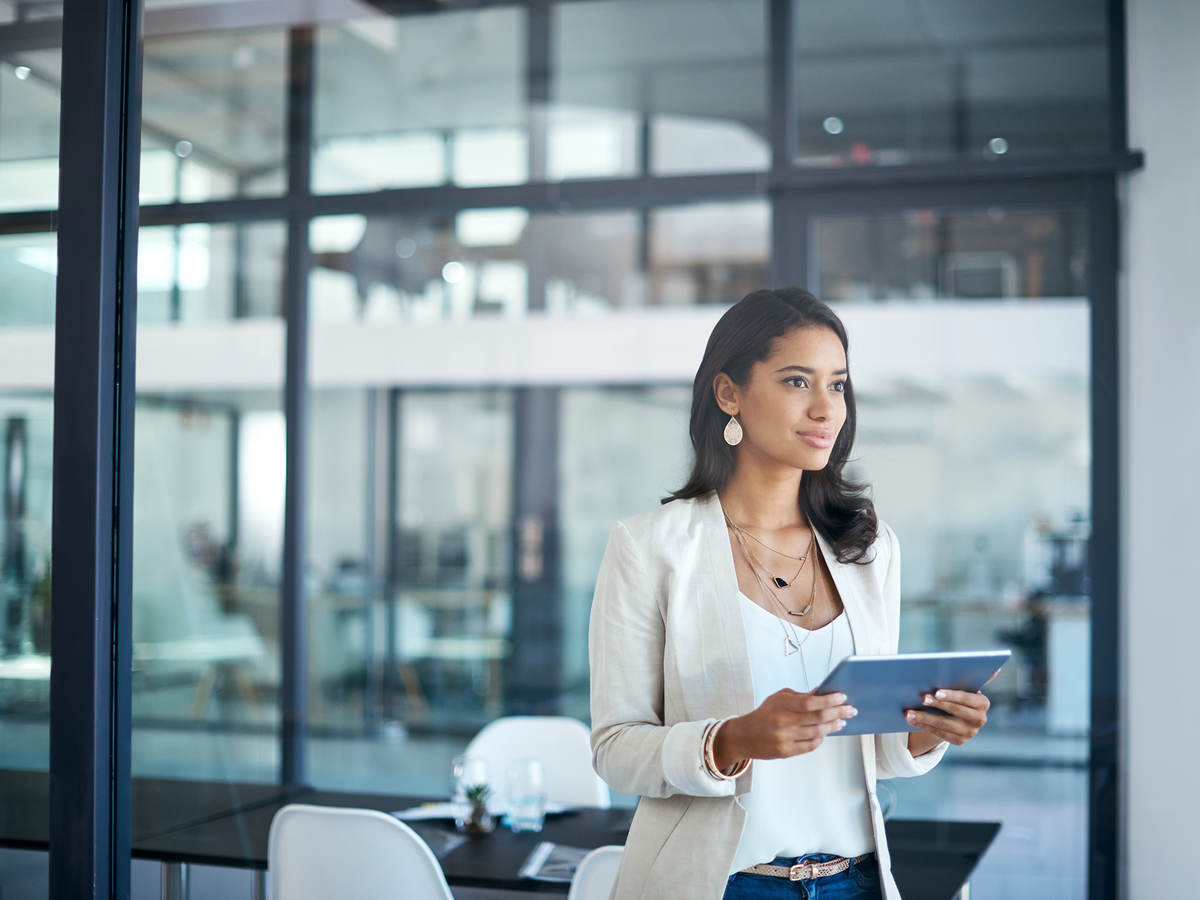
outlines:
[[[287, 32], [145, 41], [143, 203], [277, 193]], [[138, 239], [133, 774], [278, 778], [278, 221]]]

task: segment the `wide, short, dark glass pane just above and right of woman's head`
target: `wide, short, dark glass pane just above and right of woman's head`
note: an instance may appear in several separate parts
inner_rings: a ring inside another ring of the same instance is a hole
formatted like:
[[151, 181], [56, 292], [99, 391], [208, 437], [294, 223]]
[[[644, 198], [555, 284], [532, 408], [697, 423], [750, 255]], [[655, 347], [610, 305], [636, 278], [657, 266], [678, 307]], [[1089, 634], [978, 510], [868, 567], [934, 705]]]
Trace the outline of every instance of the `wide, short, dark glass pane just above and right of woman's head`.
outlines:
[[1079, 210], [829, 216], [815, 221], [823, 300], [1033, 299], [1086, 290]]

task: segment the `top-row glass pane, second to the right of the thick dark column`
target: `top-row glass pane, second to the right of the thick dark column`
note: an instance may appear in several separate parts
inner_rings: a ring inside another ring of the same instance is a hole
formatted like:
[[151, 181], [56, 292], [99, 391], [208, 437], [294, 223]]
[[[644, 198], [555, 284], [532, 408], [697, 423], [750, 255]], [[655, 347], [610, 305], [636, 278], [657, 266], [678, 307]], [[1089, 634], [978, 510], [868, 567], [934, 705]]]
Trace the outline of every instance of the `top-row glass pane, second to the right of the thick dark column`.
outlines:
[[526, 181], [524, 17], [500, 7], [322, 28], [313, 191]]

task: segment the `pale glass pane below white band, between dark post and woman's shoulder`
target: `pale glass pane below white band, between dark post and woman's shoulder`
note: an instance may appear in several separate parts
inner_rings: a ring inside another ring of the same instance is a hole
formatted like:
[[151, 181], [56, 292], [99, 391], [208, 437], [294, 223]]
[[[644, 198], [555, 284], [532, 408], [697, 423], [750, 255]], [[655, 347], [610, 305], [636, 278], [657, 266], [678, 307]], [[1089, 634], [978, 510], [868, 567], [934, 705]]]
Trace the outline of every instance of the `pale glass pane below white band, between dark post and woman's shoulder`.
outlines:
[[558, 502], [566, 715], [589, 719], [588, 616], [608, 532], [618, 518], [653, 509], [683, 485], [691, 463], [690, 408], [686, 386], [563, 389]]

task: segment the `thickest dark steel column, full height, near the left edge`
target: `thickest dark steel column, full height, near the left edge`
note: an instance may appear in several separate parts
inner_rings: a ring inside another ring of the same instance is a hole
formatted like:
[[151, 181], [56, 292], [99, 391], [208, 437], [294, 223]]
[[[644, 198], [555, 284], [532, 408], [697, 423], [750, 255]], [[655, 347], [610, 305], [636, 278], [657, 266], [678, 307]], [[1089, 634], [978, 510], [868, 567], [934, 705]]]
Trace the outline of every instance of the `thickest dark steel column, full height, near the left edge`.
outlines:
[[125, 900], [139, 0], [64, 2], [60, 116], [49, 896]]

